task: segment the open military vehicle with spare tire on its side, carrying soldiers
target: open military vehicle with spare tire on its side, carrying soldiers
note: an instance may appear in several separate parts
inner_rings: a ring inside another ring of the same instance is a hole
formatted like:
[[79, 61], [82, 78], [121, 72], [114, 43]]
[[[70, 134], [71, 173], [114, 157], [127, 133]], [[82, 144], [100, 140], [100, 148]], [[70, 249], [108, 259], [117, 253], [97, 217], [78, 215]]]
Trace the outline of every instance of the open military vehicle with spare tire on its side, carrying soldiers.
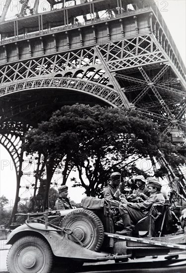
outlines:
[[[175, 200], [186, 200], [173, 193]], [[136, 224], [133, 237], [115, 233], [122, 229], [118, 207], [117, 202], [86, 197], [82, 208], [26, 214], [25, 224], [8, 237], [7, 244], [12, 245], [7, 257], [9, 273], [49, 273], [53, 261], [60, 261], [64, 272], [67, 264], [125, 262], [186, 252], [186, 213], [182, 228], [176, 216], [180, 205], [172, 201], [152, 205], [149, 215]]]

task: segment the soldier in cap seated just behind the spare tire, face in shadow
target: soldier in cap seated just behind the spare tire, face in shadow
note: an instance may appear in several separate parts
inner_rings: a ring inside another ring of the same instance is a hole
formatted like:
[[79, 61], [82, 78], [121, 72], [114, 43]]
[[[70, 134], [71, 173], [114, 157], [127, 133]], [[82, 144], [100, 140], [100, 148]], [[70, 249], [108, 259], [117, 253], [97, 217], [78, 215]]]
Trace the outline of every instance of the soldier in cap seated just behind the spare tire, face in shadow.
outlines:
[[[108, 187], [103, 189], [103, 197], [108, 200], [118, 200], [116, 197], [116, 192], [119, 189], [119, 185], [121, 183], [121, 173], [114, 172], [111, 174], [111, 182]], [[118, 196], [118, 195], [117, 195]]]

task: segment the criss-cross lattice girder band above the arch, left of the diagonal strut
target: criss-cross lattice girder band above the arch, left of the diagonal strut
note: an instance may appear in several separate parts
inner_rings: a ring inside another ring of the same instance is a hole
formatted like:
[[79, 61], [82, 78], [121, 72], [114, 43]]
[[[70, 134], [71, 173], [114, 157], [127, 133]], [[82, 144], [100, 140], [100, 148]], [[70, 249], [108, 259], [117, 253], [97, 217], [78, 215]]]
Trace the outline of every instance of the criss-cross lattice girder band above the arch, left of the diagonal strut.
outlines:
[[72, 71], [71, 73], [74, 74], [77, 72], [77, 69], [91, 69], [91, 71], [96, 71], [98, 65], [101, 70], [100, 63], [101, 61], [96, 56], [94, 48], [86, 48], [74, 52], [66, 52], [1, 66], [0, 83], [4, 84], [15, 80], [30, 79], [42, 75], [56, 75], [57, 73], [65, 75], [65, 73], [70, 73], [70, 70]]

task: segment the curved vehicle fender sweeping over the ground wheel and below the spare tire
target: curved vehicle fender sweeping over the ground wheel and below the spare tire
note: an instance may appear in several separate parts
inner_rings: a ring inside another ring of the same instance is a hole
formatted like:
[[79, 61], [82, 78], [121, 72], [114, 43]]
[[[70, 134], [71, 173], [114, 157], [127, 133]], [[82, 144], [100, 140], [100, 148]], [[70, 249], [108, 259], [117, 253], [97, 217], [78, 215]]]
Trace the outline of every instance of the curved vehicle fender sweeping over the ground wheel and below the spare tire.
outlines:
[[[44, 237], [49, 243], [55, 256], [63, 258], [83, 259], [84, 261], [95, 261], [97, 259], [109, 257], [106, 253], [98, 253], [70, 241], [67, 238], [66, 233], [57, 231], [53, 227], [48, 227], [46, 230], [45, 224], [41, 223], [29, 223], [23, 224], [15, 228], [7, 238], [6, 244], [13, 244], [16, 246], [16, 241], [23, 236], [38, 236]], [[108, 258], [109, 260], [109, 258]]]

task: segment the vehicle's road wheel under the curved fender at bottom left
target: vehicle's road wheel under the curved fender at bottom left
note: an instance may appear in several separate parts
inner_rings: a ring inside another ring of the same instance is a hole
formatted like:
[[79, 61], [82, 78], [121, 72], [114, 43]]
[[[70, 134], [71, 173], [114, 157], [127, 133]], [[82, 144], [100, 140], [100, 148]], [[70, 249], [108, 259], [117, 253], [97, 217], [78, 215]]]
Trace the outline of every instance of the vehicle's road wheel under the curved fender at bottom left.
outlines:
[[53, 254], [48, 243], [36, 236], [17, 240], [8, 252], [9, 273], [50, 273]]

